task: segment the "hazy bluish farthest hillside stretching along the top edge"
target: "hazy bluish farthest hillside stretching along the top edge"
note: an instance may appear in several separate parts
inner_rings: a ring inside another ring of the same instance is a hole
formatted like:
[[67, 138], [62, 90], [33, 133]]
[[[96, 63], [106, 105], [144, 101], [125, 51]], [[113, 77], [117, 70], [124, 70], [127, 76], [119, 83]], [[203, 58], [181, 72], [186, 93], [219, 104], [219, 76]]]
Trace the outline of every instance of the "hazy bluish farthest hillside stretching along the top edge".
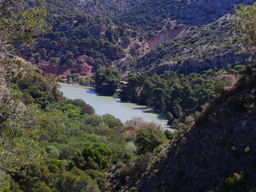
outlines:
[[[252, 4], [255, 0], [142, 0], [142, 1], [110, 1], [110, 0], [45, 0], [52, 11], [80, 11], [92, 15], [102, 14], [117, 23], [128, 23], [140, 27], [149, 33], [147, 38], [154, 37], [165, 27], [174, 27], [173, 21], [184, 23], [186, 26], [201, 26], [216, 21], [227, 13], [233, 13], [235, 4]], [[68, 7], [68, 9], [66, 9]], [[176, 24], [175, 24], [176, 26]], [[173, 38], [173, 37], [171, 37]], [[170, 39], [170, 38], [169, 38]]]

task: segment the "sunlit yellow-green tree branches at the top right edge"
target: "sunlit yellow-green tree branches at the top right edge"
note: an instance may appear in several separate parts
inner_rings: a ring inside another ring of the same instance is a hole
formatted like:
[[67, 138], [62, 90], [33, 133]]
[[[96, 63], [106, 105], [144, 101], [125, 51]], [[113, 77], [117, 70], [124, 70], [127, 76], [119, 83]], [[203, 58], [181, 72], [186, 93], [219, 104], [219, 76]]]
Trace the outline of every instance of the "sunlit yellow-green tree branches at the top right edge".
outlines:
[[254, 48], [256, 46], [256, 4], [251, 6], [244, 6], [240, 4], [236, 9], [237, 13], [235, 18], [237, 18], [238, 25], [237, 28], [240, 31], [240, 40], [244, 43], [246, 48]]

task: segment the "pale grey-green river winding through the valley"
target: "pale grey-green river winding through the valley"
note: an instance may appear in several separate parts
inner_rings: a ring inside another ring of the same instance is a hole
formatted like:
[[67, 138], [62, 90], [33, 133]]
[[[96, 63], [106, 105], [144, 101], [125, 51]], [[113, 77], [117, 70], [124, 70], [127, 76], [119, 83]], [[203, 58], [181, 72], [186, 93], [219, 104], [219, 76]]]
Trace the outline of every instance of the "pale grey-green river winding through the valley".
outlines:
[[82, 99], [91, 105], [97, 115], [111, 114], [122, 122], [130, 120], [132, 117], [140, 116], [145, 121], [155, 121], [163, 128], [168, 128], [165, 115], [156, 114], [150, 107], [122, 102], [110, 96], [103, 96], [97, 93], [92, 87], [74, 86], [67, 83], [60, 83], [60, 91], [68, 99]]

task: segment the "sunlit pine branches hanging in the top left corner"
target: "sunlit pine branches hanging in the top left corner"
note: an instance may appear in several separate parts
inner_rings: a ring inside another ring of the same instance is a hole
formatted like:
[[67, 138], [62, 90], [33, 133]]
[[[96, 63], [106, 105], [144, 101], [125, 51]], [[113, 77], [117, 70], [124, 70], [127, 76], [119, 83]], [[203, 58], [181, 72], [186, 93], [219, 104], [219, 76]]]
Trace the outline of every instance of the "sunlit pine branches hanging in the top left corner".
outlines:
[[46, 32], [46, 7], [27, 8], [28, 0], [0, 0], [0, 46], [32, 42], [33, 38]]

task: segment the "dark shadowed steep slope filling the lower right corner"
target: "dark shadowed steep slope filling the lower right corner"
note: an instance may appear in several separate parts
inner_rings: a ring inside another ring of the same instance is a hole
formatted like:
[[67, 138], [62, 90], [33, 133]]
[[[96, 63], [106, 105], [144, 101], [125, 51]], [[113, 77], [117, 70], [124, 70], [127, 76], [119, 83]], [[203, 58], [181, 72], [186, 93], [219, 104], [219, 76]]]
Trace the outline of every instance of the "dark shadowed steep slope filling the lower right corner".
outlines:
[[250, 71], [151, 159], [137, 191], [256, 189], [256, 73]]

